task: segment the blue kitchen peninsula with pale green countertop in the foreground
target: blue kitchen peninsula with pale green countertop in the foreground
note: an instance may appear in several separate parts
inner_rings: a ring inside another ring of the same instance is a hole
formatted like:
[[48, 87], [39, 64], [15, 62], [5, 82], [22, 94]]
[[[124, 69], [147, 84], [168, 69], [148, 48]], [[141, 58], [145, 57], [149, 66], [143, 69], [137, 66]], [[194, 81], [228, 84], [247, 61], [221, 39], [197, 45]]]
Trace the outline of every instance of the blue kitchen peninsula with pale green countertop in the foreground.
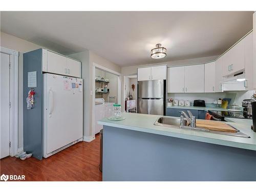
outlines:
[[251, 120], [227, 119], [250, 138], [154, 125], [158, 115], [102, 119], [103, 181], [256, 181]]

